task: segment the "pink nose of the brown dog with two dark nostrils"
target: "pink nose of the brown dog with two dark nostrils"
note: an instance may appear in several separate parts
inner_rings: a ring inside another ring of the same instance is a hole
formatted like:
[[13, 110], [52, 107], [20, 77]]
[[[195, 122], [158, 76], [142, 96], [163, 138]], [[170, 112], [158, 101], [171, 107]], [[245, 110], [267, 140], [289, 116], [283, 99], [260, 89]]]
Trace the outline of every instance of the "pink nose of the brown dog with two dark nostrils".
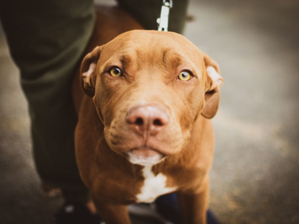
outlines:
[[126, 115], [126, 122], [139, 134], [155, 135], [169, 122], [168, 114], [153, 105], [132, 108]]

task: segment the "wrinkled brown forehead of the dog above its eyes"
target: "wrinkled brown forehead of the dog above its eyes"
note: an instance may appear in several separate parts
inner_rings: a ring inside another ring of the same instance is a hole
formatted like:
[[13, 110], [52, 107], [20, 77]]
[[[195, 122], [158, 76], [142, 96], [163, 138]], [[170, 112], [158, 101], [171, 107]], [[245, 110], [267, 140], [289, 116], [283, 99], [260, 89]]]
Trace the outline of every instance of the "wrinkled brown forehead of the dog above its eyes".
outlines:
[[200, 65], [198, 48], [184, 36], [154, 30], [133, 30], [117, 36], [102, 50], [103, 62], [120, 60], [122, 64], [134, 63], [144, 66], [170, 64], [177, 66], [186, 62]]

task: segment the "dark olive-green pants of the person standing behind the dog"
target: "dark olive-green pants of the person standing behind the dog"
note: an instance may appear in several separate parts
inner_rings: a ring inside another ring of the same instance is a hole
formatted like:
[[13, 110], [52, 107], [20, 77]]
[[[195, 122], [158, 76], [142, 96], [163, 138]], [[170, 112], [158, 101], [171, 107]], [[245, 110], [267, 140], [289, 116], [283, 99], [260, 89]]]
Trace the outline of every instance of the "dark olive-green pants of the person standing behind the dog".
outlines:
[[[146, 29], [157, 29], [162, 0], [119, 0]], [[173, 0], [169, 31], [181, 33], [187, 0]], [[74, 155], [77, 116], [71, 81], [94, 24], [92, 0], [0, 0], [10, 53], [29, 104], [33, 154], [42, 181], [66, 200], [89, 200]]]

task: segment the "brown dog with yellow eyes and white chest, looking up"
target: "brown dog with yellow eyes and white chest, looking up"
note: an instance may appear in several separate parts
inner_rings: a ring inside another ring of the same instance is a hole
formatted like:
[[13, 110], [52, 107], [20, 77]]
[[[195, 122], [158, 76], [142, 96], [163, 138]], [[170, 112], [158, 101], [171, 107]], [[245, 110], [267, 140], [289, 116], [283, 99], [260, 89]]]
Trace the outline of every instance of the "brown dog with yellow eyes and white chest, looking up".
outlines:
[[209, 119], [219, 104], [219, 68], [177, 33], [133, 30], [117, 36], [141, 27], [114, 10], [123, 23], [115, 32], [103, 27], [113, 23], [109, 13], [98, 13], [101, 23], [89, 48], [101, 46], [81, 65], [85, 94], [74, 82], [83, 182], [108, 224], [130, 223], [126, 205], [171, 192], [178, 195], [184, 223], [205, 223], [214, 147]]

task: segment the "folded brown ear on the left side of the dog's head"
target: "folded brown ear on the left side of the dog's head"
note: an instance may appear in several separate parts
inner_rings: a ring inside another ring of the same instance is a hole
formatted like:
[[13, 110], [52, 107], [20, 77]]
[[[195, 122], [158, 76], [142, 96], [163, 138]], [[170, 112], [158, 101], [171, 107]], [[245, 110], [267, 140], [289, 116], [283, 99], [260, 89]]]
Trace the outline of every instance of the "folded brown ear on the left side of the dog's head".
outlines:
[[81, 86], [84, 93], [86, 93], [86, 95], [90, 96], [91, 98], [95, 93], [95, 82], [97, 79], [96, 67], [97, 61], [100, 58], [101, 50], [102, 46], [94, 48], [93, 51], [91, 51], [84, 57], [81, 64]]

